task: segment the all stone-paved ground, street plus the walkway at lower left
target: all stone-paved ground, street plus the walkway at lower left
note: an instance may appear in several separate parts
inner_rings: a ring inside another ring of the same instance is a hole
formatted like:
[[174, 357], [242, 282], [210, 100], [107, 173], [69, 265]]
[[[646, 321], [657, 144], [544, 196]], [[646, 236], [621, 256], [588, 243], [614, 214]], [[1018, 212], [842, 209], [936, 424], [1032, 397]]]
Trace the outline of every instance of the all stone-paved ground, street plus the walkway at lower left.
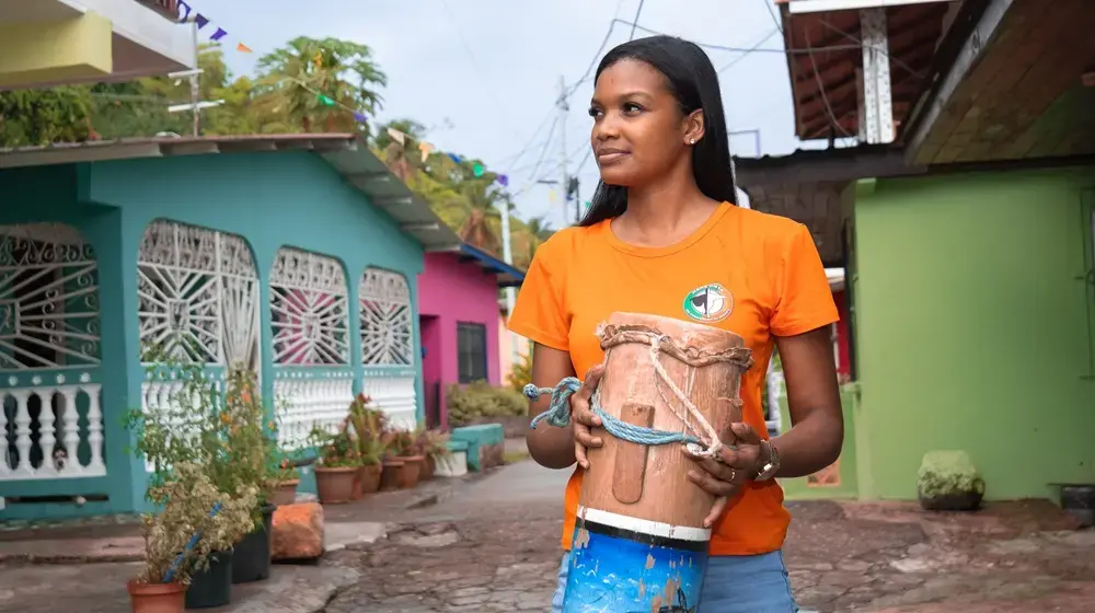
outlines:
[[[277, 566], [270, 581], [241, 588], [257, 591], [235, 599], [231, 610], [546, 611], [566, 477], [529, 461], [402, 499], [328, 507], [342, 547], [316, 566]], [[788, 507], [795, 519], [785, 557], [804, 608], [1095, 611], [1095, 532], [1075, 530], [1049, 502], [990, 505], [967, 514], [924, 513], [903, 504]], [[124, 583], [131, 572], [120, 563], [0, 563], [0, 612], [127, 611]]]

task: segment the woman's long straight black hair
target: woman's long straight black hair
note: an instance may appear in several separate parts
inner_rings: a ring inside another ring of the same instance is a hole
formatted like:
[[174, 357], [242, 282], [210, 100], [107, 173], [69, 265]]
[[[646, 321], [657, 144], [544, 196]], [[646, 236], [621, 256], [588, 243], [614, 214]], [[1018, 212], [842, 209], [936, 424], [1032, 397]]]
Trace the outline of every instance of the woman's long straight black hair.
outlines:
[[[718, 73], [711, 58], [695, 43], [676, 36], [649, 36], [630, 41], [609, 51], [597, 67], [593, 82], [615, 62], [634, 59], [654, 67], [687, 116], [703, 109], [703, 138], [692, 146], [692, 176], [700, 192], [712, 200], [737, 204], [730, 137], [726, 129]], [[627, 210], [627, 188], [597, 183], [593, 199], [580, 225], [592, 225]]]

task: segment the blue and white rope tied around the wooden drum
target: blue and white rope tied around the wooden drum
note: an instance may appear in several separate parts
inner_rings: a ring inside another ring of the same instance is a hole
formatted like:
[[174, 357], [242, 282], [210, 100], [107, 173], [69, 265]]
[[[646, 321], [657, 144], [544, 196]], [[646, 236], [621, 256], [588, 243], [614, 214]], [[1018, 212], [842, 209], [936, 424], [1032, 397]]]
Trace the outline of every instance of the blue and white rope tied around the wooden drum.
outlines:
[[[655, 428], [647, 428], [644, 426], [636, 426], [634, 424], [629, 424], [619, 419], [601, 406], [600, 403], [600, 385], [593, 392], [590, 398], [590, 409], [595, 415], [601, 418], [601, 425], [604, 430], [608, 431], [613, 437], [625, 440], [629, 442], [634, 442], [637, 444], [645, 446], [658, 446], [658, 444], [671, 444], [671, 443], [684, 443], [689, 447], [689, 450], [696, 455], [703, 458], [717, 458], [719, 450], [726, 446], [718, 438], [718, 432], [715, 428], [707, 421], [703, 416], [703, 413], [692, 403], [684, 392], [673, 383], [670, 379], [669, 373], [666, 371], [665, 367], [661, 365], [661, 354], [669, 352], [671, 356], [680, 359], [684, 356], [683, 351], [672, 344], [672, 339], [662, 334], [658, 334], [657, 331], [641, 331], [641, 329], [621, 329], [616, 332], [616, 328], [611, 326], [606, 326], [598, 331], [601, 336], [601, 346], [609, 349], [621, 343], [621, 337], [623, 343], [627, 342], [645, 342], [650, 346], [650, 362], [654, 365], [654, 370], [657, 373], [655, 379], [655, 388], [658, 390], [658, 394], [661, 396], [662, 402], [667, 407], [681, 420], [683, 430], [680, 432], [672, 432], [668, 430], [658, 430]], [[669, 350], [667, 350], [669, 347]], [[748, 368], [751, 360], [746, 357], [742, 359], [739, 352], [731, 351], [728, 355], [708, 355], [702, 356], [703, 361], [712, 363], [714, 361], [729, 361], [739, 363], [742, 368]], [[690, 358], [693, 356], [689, 356]], [[607, 359], [607, 357], [606, 357]], [[691, 359], [683, 359], [685, 363], [691, 362]], [[694, 375], [693, 367], [695, 365], [689, 363], [690, 375]], [[603, 381], [603, 380], [602, 380]], [[669, 402], [666, 396], [662, 386], [658, 383], [666, 383], [672, 395], [676, 396], [677, 401], [683, 405], [685, 413], [678, 410], [673, 404]], [[554, 388], [539, 388], [533, 383], [529, 383], [525, 386], [525, 395], [531, 400], [537, 401], [541, 395], [551, 394], [551, 403], [549, 403], [548, 409], [537, 415], [532, 423], [529, 425], [530, 428], [535, 428], [541, 421], [546, 420], [550, 425], [557, 428], [566, 428], [570, 425], [570, 396], [573, 396], [578, 390], [581, 389], [581, 381], [576, 377], [567, 377], [558, 382]], [[740, 402], [740, 401], [735, 401]], [[691, 416], [692, 419], [688, 419]], [[693, 426], [693, 420], [696, 426]]]

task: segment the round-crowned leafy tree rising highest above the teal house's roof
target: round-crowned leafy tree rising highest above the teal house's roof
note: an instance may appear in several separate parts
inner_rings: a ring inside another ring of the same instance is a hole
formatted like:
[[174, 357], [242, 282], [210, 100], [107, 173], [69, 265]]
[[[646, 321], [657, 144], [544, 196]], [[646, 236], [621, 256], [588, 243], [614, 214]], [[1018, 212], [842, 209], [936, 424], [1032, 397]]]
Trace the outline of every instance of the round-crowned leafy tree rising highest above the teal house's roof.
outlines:
[[368, 46], [331, 37], [293, 38], [260, 58], [257, 68], [266, 105], [306, 132], [316, 124], [326, 131], [362, 129], [351, 113], [318, 94], [371, 115], [381, 103], [377, 86], [388, 84]]

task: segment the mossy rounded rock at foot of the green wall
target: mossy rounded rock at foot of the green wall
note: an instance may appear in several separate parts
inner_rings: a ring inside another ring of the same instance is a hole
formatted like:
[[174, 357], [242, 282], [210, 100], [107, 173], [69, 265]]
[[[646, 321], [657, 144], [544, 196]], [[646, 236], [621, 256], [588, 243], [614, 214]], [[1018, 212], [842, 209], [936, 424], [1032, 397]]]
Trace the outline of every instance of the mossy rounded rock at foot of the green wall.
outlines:
[[929, 511], [971, 511], [981, 506], [984, 481], [965, 451], [929, 451], [920, 464], [917, 494]]

